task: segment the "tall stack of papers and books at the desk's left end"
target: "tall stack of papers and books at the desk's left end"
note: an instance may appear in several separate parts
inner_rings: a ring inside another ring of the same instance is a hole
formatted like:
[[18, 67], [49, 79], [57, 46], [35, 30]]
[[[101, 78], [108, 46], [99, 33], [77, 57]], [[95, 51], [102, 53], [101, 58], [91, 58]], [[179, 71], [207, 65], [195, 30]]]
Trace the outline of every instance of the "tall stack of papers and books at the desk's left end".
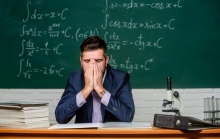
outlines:
[[48, 103], [0, 103], [0, 127], [43, 128], [49, 126]]

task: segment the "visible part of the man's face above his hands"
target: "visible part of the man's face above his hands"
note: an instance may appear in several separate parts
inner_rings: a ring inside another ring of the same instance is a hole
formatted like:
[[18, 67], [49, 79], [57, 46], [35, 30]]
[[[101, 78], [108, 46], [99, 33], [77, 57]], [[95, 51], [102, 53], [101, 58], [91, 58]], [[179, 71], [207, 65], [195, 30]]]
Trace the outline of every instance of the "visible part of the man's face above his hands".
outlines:
[[90, 62], [96, 62], [100, 67], [102, 73], [104, 74], [105, 67], [108, 64], [108, 57], [104, 56], [104, 51], [102, 49], [86, 51], [82, 53], [82, 56], [80, 57], [80, 62], [84, 72], [88, 68]]

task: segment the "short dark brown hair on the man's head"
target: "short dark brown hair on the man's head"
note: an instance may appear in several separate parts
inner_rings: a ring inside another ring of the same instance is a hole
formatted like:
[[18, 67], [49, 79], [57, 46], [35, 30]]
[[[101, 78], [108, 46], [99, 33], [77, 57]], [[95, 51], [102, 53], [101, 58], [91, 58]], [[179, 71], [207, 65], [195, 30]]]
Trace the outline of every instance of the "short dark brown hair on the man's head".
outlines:
[[104, 40], [98, 36], [91, 36], [85, 39], [80, 46], [80, 53], [102, 49], [104, 56], [107, 56], [107, 46]]

